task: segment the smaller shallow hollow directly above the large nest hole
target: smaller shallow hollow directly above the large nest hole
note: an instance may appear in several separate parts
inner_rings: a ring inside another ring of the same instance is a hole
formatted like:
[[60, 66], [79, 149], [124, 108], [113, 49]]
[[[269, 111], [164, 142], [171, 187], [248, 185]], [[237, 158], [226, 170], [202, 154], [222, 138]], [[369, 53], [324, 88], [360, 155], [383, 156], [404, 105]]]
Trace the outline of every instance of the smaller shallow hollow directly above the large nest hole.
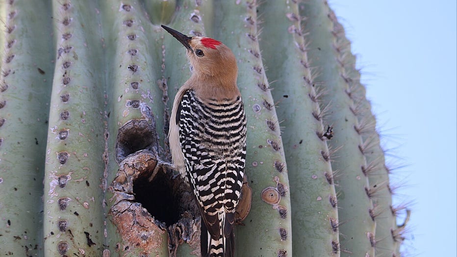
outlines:
[[140, 150], [157, 152], [155, 123], [146, 120], [130, 120], [119, 128], [116, 138], [116, 161], [121, 162], [129, 154]]

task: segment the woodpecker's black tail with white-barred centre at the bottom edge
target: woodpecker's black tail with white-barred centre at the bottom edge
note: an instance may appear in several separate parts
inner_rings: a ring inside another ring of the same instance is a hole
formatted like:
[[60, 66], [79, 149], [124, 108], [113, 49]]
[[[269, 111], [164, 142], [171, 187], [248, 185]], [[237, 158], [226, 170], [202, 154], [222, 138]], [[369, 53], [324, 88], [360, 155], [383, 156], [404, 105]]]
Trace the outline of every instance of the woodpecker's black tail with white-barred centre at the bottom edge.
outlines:
[[202, 257], [235, 256], [235, 234], [233, 225], [229, 222], [221, 226], [221, 233], [217, 239], [211, 238], [210, 233], [206, 230], [206, 227], [202, 222], [200, 240]]

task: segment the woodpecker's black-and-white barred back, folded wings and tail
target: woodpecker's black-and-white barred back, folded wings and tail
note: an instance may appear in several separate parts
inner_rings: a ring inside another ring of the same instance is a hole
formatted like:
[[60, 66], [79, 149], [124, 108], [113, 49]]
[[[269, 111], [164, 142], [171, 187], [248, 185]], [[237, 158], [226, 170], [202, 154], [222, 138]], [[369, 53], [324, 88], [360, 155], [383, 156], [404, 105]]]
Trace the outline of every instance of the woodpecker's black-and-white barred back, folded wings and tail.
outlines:
[[246, 160], [246, 116], [241, 96], [203, 103], [190, 89], [181, 99], [178, 114], [187, 178], [205, 225], [203, 228], [202, 222], [202, 256], [232, 256], [234, 212]]

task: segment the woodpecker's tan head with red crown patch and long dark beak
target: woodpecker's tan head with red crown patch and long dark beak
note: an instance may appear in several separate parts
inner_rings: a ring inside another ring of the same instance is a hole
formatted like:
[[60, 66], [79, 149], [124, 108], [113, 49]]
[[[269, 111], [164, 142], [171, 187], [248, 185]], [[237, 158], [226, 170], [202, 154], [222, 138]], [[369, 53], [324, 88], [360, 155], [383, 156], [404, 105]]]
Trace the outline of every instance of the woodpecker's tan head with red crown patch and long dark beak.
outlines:
[[189, 37], [173, 28], [163, 25], [162, 27], [187, 49], [187, 58], [194, 75], [222, 80], [223, 83], [224, 80], [234, 80], [236, 84], [238, 68], [235, 55], [226, 45], [209, 37]]

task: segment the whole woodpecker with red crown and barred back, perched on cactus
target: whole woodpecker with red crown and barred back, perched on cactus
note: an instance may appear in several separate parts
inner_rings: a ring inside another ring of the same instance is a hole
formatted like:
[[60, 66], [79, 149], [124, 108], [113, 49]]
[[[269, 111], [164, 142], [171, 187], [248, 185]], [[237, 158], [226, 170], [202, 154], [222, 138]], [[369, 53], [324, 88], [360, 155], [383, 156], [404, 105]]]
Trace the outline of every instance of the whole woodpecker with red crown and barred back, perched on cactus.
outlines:
[[172, 159], [199, 204], [202, 256], [233, 257], [235, 208], [246, 161], [246, 115], [236, 59], [220, 41], [162, 27], [184, 45], [192, 67], [173, 103]]

